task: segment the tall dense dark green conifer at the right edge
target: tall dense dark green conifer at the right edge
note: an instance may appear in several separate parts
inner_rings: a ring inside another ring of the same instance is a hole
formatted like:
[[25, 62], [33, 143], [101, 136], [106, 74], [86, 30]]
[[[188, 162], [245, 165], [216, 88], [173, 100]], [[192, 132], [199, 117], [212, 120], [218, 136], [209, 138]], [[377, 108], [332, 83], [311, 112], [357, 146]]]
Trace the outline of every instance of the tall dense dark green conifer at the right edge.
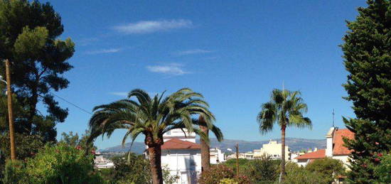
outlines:
[[341, 45], [348, 82], [344, 84], [357, 119], [344, 119], [354, 140], [345, 140], [353, 150], [350, 158], [353, 183], [374, 183], [370, 166], [378, 152], [391, 150], [391, 3], [368, 0], [358, 8], [355, 21]]

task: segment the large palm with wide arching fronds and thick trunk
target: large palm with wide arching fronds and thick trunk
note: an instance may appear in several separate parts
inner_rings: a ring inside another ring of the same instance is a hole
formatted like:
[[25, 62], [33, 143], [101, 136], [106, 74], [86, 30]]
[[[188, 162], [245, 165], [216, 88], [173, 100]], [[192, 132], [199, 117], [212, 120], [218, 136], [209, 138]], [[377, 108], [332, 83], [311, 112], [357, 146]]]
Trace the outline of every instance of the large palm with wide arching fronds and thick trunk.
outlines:
[[[133, 98], [135, 97], [135, 99]], [[187, 129], [195, 132], [200, 139], [209, 142], [208, 136], [200, 131], [200, 123], [195, 116], [204, 118], [203, 124], [216, 135], [218, 140], [223, 134], [213, 125], [214, 115], [208, 109], [209, 105], [203, 100], [203, 95], [183, 88], [164, 97], [164, 92], [153, 98], [144, 90], [132, 90], [128, 99], [122, 99], [111, 104], [103, 104], [94, 108], [90, 119], [91, 136], [89, 141], [97, 136], [109, 137], [116, 129], [126, 129], [122, 145], [128, 138], [134, 139], [144, 134], [144, 144], [148, 146], [149, 162], [151, 165], [152, 182], [163, 183], [161, 171], [161, 146], [164, 144], [163, 134], [172, 129]]]

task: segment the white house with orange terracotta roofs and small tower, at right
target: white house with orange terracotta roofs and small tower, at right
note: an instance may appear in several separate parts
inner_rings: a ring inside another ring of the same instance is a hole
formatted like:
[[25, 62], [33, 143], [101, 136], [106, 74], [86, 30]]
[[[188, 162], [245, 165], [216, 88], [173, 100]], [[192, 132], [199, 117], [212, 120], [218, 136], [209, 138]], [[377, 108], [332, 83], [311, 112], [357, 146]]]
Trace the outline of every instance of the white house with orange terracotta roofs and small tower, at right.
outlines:
[[348, 148], [343, 146], [343, 138], [354, 139], [354, 133], [348, 129], [338, 129], [331, 127], [326, 135], [326, 149], [320, 149], [311, 153], [306, 153], [294, 159], [300, 166], [306, 166], [309, 162], [315, 159], [325, 158], [326, 156], [343, 161], [346, 168], [349, 164], [348, 157], [351, 153]]

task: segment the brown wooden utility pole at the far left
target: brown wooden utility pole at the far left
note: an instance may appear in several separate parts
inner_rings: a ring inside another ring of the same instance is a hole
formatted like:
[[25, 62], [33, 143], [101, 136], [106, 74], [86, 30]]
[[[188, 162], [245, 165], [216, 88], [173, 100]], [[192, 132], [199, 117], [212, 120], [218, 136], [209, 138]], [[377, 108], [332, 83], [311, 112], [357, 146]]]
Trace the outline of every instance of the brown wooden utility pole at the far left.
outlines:
[[9, 118], [9, 139], [11, 142], [11, 160], [15, 161], [15, 135], [14, 135], [14, 114], [12, 114], [12, 92], [11, 92], [11, 71], [9, 70], [9, 60], [6, 60], [6, 80], [7, 80], [7, 102]]

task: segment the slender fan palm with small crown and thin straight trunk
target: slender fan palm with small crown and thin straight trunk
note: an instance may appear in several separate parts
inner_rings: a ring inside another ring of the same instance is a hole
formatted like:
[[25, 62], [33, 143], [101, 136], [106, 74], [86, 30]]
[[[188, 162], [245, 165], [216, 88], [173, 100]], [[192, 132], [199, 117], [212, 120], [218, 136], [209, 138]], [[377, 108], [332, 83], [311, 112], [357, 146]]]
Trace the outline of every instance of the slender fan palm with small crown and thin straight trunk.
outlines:
[[307, 105], [299, 97], [300, 92], [290, 92], [288, 90], [272, 91], [270, 102], [262, 104], [262, 110], [257, 116], [259, 131], [266, 134], [272, 131], [274, 123], [281, 128], [282, 142], [282, 162], [281, 176], [284, 180], [285, 174], [285, 129], [287, 126], [296, 126], [299, 128], [309, 127], [311, 129], [311, 119], [303, 117], [307, 112]]

